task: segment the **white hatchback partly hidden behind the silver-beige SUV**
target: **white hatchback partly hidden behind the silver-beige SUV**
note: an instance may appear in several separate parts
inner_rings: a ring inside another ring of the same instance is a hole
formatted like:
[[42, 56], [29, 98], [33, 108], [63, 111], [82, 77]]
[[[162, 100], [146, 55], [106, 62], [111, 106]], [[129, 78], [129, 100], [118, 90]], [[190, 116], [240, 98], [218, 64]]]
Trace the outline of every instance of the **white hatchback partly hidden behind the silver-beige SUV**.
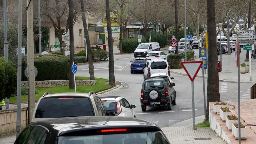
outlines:
[[100, 99], [107, 113], [114, 112], [116, 116], [136, 117], [133, 111], [136, 106], [133, 104], [130, 105], [124, 97], [100, 97]]

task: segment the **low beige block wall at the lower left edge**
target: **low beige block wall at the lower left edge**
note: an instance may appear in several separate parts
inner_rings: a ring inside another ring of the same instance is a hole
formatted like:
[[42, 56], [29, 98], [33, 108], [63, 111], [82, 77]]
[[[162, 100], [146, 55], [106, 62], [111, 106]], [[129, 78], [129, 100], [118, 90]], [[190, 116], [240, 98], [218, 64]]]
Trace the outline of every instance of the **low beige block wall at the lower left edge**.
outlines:
[[[16, 109], [0, 110], [0, 136], [16, 132]], [[28, 124], [28, 108], [21, 108], [21, 131]]]

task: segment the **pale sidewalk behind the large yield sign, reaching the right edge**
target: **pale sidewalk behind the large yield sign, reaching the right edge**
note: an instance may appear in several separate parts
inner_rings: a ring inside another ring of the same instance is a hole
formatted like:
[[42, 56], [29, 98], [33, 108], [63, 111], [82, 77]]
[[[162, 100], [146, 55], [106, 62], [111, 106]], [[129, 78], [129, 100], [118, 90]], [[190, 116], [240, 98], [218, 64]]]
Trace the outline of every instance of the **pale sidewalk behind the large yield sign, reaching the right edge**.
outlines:
[[[241, 52], [240, 54], [240, 64], [245, 63], [249, 65], [249, 62], [244, 62], [246, 57], [246, 51]], [[218, 61], [220, 61], [220, 56], [218, 56]], [[256, 60], [252, 59], [252, 81], [250, 81], [250, 73], [240, 74], [240, 82], [253, 82], [256, 80]], [[235, 52], [233, 54], [227, 55], [222, 54], [222, 71], [219, 72], [219, 80], [221, 82], [237, 82], [237, 67], [235, 65]], [[170, 69], [171, 73], [179, 75], [187, 75], [185, 70], [182, 69]], [[202, 70], [200, 70], [196, 77], [202, 77]], [[207, 78], [207, 74], [205, 74]]]

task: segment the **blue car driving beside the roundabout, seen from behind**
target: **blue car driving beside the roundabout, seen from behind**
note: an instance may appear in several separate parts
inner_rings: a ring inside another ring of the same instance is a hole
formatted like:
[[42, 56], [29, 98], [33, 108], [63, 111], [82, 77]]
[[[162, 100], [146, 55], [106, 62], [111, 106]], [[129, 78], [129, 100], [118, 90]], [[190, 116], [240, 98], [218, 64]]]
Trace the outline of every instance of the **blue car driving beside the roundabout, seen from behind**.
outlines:
[[131, 62], [131, 74], [134, 71], [143, 72], [144, 68], [142, 66], [144, 65], [144, 67], [145, 67], [146, 61], [147, 61], [146, 58], [134, 58], [133, 61], [130, 61]]

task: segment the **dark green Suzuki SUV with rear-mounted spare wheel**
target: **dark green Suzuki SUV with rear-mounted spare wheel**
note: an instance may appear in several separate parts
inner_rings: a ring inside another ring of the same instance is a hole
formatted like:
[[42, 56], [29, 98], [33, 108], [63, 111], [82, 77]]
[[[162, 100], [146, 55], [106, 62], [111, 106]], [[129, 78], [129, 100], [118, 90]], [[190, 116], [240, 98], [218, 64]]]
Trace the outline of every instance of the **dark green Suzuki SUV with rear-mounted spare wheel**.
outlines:
[[[173, 77], [171, 78], [173, 79]], [[147, 106], [167, 105], [168, 110], [176, 105], [175, 83], [169, 81], [167, 76], [145, 78], [141, 88], [141, 109]]]

